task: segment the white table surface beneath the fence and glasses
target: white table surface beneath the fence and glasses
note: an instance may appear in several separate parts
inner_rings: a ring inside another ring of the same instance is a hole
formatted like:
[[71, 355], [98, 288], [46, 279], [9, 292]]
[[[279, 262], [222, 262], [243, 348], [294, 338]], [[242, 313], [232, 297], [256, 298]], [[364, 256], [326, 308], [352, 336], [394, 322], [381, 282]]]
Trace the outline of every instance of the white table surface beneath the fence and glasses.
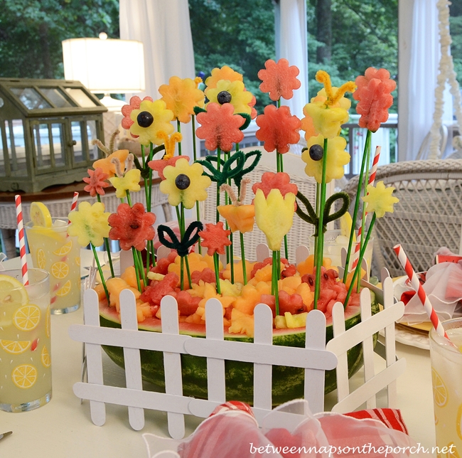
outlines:
[[[12, 265], [14, 262], [17, 260], [8, 261], [5, 267], [16, 267]], [[84, 263], [82, 257], [82, 265]], [[145, 410], [144, 429], [134, 431], [129, 425], [127, 408], [118, 405], [108, 404], [106, 423], [101, 427], [93, 425], [88, 401], [81, 404], [72, 392], [72, 385], [80, 381], [82, 345], [70, 339], [68, 327], [82, 324], [82, 316], [82, 307], [71, 314], [51, 316], [53, 398], [31, 412], [0, 411], [0, 433], [13, 431], [0, 440], [1, 458], [145, 458], [143, 433], [168, 435], [163, 412]], [[407, 369], [397, 380], [397, 408], [411, 437], [424, 447], [433, 447], [429, 351], [397, 343], [397, 354], [407, 360]], [[105, 383], [124, 386], [122, 369], [107, 357], [103, 361]], [[359, 374], [354, 377], [358, 383]], [[326, 397], [326, 405], [334, 402], [334, 393], [331, 393]], [[199, 422], [187, 417], [186, 434], [193, 432]]]

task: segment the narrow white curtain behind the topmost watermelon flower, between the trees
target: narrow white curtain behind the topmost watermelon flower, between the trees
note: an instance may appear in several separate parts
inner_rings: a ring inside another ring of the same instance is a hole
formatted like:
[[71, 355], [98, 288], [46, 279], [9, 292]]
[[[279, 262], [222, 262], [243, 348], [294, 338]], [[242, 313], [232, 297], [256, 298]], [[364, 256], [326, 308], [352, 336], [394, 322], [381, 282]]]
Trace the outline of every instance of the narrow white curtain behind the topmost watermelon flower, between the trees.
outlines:
[[301, 81], [299, 90], [294, 91], [291, 100], [281, 100], [288, 105], [292, 115], [303, 117], [303, 107], [308, 100], [308, 48], [306, 31], [305, 0], [279, 0], [276, 4], [276, 61], [280, 58], [289, 60], [289, 65], [296, 65]]

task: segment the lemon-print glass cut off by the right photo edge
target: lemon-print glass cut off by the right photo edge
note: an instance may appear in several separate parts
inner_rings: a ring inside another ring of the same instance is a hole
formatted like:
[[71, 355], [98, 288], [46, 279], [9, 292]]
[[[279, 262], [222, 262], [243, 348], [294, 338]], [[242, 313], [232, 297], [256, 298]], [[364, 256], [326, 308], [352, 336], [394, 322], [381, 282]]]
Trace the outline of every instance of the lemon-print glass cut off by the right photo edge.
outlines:
[[[436, 445], [451, 447], [447, 457], [462, 457], [462, 318], [443, 322], [449, 339], [430, 331]], [[448, 448], [449, 449], [449, 448]], [[447, 449], [447, 450], [448, 450]], [[446, 454], [443, 455], [446, 457]]]

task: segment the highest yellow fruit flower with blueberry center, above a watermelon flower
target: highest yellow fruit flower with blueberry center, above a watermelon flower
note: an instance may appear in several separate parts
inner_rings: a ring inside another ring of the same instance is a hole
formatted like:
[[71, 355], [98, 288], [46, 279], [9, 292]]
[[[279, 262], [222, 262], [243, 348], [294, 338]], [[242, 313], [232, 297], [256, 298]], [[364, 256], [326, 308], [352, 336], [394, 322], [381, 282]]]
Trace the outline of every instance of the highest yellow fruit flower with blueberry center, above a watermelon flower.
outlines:
[[[242, 81], [220, 80], [217, 82], [217, 87], [208, 87], [205, 90], [209, 103], [219, 103], [224, 105], [229, 103], [234, 107], [234, 113], [245, 113], [250, 115], [252, 108], [249, 103], [252, 102], [252, 92], [245, 90]], [[205, 105], [206, 107], [208, 106]]]

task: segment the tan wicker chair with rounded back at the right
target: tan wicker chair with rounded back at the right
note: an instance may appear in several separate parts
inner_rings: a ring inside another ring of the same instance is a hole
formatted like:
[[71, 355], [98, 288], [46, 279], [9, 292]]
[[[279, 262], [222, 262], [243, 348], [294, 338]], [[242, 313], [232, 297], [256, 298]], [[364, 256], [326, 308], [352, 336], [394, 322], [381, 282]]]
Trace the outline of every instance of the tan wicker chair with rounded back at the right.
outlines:
[[[380, 166], [375, 182], [394, 186], [399, 203], [394, 213], [386, 213], [375, 222], [372, 272], [382, 267], [392, 277], [404, 275], [393, 251], [401, 243], [416, 271], [427, 270], [434, 253], [446, 246], [461, 252], [462, 159], [405, 161]], [[354, 198], [358, 176], [345, 190]]]

